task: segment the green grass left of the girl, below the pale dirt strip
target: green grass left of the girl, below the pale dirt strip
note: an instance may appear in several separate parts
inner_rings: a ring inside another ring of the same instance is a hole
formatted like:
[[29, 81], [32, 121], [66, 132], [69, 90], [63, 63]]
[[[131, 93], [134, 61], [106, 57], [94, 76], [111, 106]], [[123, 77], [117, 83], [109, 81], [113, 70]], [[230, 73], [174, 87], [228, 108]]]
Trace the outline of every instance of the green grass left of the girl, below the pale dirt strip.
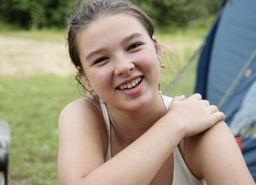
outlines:
[[79, 95], [75, 80], [0, 76], [0, 118], [10, 124], [11, 184], [58, 184], [58, 117]]

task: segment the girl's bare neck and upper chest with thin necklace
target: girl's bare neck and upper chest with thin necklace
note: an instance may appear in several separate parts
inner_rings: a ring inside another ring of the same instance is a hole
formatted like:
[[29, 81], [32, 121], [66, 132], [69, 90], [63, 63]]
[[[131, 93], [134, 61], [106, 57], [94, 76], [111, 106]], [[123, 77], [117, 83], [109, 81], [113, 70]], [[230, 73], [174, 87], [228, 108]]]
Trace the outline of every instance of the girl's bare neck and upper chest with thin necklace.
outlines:
[[139, 111], [120, 111], [109, 109], [111, 122], [116, 127], [124, 146], [128, 146], [140, 135], [143, 135], [158, 119], [165, 114], [165, 105], [161, 95], [157, 95], [154, 101]]

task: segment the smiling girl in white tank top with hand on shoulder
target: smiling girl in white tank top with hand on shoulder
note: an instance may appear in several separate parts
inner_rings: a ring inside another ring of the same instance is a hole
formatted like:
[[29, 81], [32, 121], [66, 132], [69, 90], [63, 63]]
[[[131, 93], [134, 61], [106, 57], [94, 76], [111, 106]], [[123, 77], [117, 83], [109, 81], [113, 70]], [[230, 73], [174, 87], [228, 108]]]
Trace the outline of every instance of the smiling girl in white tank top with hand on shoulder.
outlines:
[[60, 184], [255, 184], [216, 106], [159, 93], [153, 34], [129, 1], [84, 1], [69, 20], [69, 55], [94, 95], [61, 111]]

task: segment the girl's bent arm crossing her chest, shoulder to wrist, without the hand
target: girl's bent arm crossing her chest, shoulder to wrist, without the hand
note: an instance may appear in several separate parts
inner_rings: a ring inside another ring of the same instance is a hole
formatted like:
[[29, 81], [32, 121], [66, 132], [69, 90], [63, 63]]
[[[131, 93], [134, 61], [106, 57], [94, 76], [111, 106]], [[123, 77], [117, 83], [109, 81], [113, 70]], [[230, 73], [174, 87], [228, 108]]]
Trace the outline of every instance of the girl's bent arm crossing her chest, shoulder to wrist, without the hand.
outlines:
[[[99, 134], [99, 128], [94, 126], [97, 122], [91, 120], [91, 124], [83, 124], [80, 121], [82, 113], [74, 117], [74, 108], [64, 111], [68, 114], [62, 112], [59, 120], [61, 185], [149, 184], [182, 138], [182, 127], [167, 130], [165, 122], [159, 121], [137, 141], [104, 163], [104, 138]], [[89, 121], [89, 117], [91, 115], [83, 114], [83, 119]]]

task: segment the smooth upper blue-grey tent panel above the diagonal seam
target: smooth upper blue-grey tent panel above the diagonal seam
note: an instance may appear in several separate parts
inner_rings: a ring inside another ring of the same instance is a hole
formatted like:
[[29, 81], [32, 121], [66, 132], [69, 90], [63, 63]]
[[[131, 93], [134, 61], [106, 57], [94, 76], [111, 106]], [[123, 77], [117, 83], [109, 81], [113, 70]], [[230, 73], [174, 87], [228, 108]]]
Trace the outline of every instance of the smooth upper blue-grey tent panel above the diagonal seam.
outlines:
[[255, 0], [233, 0], [232, 4], [225, 4], [211, 49], [206, 82], [206, 96], [215, 105], [255, 50], [255, 8]]

